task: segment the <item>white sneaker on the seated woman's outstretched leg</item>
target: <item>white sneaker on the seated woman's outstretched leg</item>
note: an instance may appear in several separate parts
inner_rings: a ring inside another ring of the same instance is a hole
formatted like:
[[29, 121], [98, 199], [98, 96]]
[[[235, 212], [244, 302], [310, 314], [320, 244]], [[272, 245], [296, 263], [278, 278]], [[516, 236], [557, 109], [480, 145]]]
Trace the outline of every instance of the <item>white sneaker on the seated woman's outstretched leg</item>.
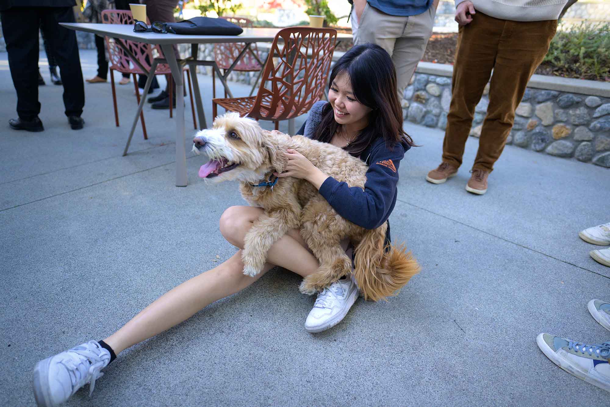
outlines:
[[41, 360], [34, 368], [34, 397], [39, 406], [57, 406], [87, 383], [89, 396], [95, 381], [110, 362], [110, 352], [95, 340]]

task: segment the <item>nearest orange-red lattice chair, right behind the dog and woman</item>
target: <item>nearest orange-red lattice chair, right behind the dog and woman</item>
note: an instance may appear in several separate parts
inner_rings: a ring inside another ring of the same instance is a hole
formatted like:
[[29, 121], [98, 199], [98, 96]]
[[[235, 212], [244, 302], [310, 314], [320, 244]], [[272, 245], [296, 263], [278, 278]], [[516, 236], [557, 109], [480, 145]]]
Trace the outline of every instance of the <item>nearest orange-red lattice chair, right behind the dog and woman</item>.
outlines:
[[[283, 46], [278, 45], [283, 42]], [[332, 28], [290, 27], [278, 32], [256, 96], [212, 99], [217, 106], [259, 120], [293, 119], [320, 100], [328, 81], [337, 31]]]

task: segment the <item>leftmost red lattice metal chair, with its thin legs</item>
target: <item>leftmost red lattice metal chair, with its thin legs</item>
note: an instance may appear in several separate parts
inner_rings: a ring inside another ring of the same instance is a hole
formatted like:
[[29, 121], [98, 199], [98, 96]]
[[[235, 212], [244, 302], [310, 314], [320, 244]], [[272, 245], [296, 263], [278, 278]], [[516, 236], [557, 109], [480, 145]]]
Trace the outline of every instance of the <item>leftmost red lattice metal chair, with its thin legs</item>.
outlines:
[[[130, 10], [103, 10], [102, 11], [102, 23], [105, 24], [134, 24], [134, 18], [131, 15]], [[121, 40], [118, 40], [121, 41]], [[138, 105], [140, 104], [140, 92], [138, 91], [137, 78], [136, 74], [146, 75], [145, 71], [143, 71], [138, 64], [134, 63], [134, 60], [126, 53], [126, 51], [117, 43], [117, 39], [113, 39], [110, 37], [106, 37], [106, 45], [108, 49], [108, 55], [110, 59], [110, 84], [112, 85], [112, 102], [114, 104], [115, 110], [115, 121], [117, 122], [118, 127], [118, 110], [117, 110], [117, 92], [115, 90], [115, 82], [114, 82], [114, 71], [119, 71], [121, 73], [131, 73], [134, 78], [134, 87], [135, 87], [135, 95], [138, 100]], [[133, 42], [124, 40], [124, 45], [126, 48], [131, 51], [132, 55], [137, 59], [137, 61], [146, 68], [147, 71], [151, 69], [151, 63], [154, 59], [152, 54], [152, 50], [156, 50], [159, 53], [159, 57], [163, 57], [163, 53], [158, 46], [151, 46], [149, 44]], [[188, 78], [188, 94], [190, 95], [191, 101], [191, 110], [193, 112], [193, 123], [195, 123], [195, 129], [197, 128], [197, 122], [195, 119], [195, 105], [193, 103], [193, 89], [191, 87], [190, 81], [190, 71], [188, 67], [184, 67], [184, 71], [187, 73]], [[170, 65], [167, 64], [159, 64], [157, 65], [154, 73], [150, 72], [150, 75], [165, 75], [167, 77], [169, 83], [169, 92], [170, 92], [170, 117], [172, 114], [172, 105], [171, 101], [173, 100], [173, 86], [171, 84], [171, 70]], [[148, 135], [146, 134], [146, 123], [144, 122], [144, 112], [140, 112], [140, 122], [142, 123], [142, 130], [144, 133], [144, 139], [148, 139]]]

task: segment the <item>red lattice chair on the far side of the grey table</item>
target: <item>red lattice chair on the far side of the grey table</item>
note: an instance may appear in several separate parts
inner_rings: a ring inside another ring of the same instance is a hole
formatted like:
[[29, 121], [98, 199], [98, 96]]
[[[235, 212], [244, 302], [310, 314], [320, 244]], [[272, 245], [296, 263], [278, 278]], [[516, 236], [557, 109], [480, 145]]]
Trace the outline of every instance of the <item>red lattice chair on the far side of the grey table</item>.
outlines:
[[[245, 17], [218, 17], [223, 20], [227, 20], [230, 23], [238, 25], [242, 28], [252, 28], [253, 21], [249, 20], [249, 18]], [[216, 65], [218, 68], [221, 68], [223, 71], [228, 70], [233, 64], [234, 60], [237, 59], [239, 54], [242, 52], [245, 45], [241, 43], [218, 43], [213, 46], [214, 60], [216, 61]], [[234, 71], [241, 72], [256, 72], [262, 71], [263, 67], [260, 64], [260, 56], [259, 50], [256, 47], [256, 44], [252, 44], [248, 51], [240, 58], [237, 62], [237, 65], [233, 68]], [[254, 85], [252, 90], [250, 90], [250, 94], [248, 96], [252, 96], [254, 92], [254, 88], [256, 87], [256, 82], [258, 82], [260, 75], [257, 76], [256, 81], [254, 81]], [[212, 97], [216, 97], [216, 73], [212, 68]], [[224, 90], [224, 97], [227, 97], [226, 89]]]

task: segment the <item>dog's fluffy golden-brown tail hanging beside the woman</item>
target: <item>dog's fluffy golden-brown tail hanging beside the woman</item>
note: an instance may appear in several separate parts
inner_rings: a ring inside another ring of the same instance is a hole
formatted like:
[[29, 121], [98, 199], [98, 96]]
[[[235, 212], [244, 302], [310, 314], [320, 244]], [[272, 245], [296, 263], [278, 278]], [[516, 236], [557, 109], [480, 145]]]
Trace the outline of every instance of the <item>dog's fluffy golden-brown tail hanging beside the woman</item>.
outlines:
[[379, 301], [397, 295], [421, 268], [404, 244], [390, 245], [386, 252], [387, 224], [368, 230], [356, 246], [354, 277], [364, 299]]

